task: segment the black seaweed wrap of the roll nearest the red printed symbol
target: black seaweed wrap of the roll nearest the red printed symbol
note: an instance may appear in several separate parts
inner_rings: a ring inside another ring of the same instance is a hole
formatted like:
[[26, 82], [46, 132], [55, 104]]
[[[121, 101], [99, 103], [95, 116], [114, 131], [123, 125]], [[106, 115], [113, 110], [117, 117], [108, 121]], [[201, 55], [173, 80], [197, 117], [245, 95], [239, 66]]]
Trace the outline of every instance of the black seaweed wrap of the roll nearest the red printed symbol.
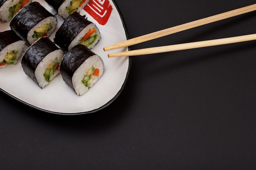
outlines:
[[63, 50], [68, 51], [68, 46], [76, 38], [76, 36], [89, 24], [91, 21], [84, 18], [78, 12], [69, 15], [60, 26], [55, 34], [54, 42]]

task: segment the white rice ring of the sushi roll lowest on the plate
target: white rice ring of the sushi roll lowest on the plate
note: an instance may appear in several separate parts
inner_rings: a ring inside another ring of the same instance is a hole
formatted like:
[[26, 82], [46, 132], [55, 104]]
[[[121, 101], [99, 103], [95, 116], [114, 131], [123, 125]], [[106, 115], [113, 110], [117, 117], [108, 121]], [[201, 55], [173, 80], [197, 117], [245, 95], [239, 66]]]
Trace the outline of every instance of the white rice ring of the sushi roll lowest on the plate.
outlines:
[[[85, 87], [82, 83], [83, 77], [87, 74], [87, 71], [92, 68], [99, 69], [99, 76], [94, 76], [92, 84], [89, 87]], [[84, 95], [88, 92], [89, 88], [94, 85], [95, 82], [99, 80], [99, 78], [103, 75], [104, 72], [104, 63], [99, 55], [92, 55], [89, 57], [81, 66], [74, 72], [72, 77], [72, 85], [77, 95]]]

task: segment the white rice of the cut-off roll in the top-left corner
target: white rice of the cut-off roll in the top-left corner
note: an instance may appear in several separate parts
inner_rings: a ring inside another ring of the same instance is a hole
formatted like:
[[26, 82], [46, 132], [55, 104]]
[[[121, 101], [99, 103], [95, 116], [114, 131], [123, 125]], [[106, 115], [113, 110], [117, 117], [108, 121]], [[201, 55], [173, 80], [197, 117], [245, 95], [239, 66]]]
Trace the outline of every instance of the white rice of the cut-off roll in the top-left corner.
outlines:
[[11, 20], [11, 18], [9, 18], [9, 8], [18, 4], [18, 2], [19, 0], [7, 0], [6, 2], [4, 2], [4, 4], [0, 8], [0, 16], [3, 22], [8, 22]]

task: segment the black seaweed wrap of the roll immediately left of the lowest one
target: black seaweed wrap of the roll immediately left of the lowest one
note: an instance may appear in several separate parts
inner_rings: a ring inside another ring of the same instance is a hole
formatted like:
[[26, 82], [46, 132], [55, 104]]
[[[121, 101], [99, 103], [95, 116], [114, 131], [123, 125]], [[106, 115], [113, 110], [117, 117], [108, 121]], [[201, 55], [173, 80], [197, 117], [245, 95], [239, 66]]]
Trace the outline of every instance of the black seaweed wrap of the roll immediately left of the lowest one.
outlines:
[[21, 65], [25, 74], [31, 77], [34, 82], [38, 84], [35, 76], [38, 64], [47, 54], [58, 49], [59, 48], [47, 37], [40, 38], [36, 41], [29, 47], [29, 49], [27, 49], [21, 60]]

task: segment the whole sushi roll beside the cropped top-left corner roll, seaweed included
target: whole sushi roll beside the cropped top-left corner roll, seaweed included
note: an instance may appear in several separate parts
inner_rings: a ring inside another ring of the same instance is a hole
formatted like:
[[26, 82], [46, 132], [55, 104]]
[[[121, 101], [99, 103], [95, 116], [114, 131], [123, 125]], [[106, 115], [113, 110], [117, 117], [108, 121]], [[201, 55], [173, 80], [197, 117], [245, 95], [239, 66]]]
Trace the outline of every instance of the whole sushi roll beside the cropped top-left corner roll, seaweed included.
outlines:
[[11, 20], [11, 30], [28, 45], [38, 38], [52, 35], [58, 24], [56, 16], [47, 11], [39, 2], [31, 2]]

